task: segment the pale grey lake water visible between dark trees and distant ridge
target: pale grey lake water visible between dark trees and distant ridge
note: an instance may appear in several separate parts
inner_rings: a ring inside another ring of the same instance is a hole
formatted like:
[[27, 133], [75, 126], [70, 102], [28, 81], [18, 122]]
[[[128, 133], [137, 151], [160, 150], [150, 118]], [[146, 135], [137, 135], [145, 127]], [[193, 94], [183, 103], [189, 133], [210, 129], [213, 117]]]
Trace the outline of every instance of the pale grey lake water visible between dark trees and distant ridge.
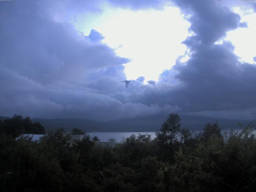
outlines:
[[[234, 130], [236, 132], [241, 131], [240, 130]], [[198, 134], [199, 132], [202, 132], [200, 130], [196, 130], [194, 131], [195, 134]], [[230, 130], [222, 130], [221, 131], [222, 134], [224, 134], [224, 132], [229, 133]], [[156, 137], [156, 132], [88, 132], [88, 134], [93, 137], [93, 136], [98, 136], [98, 138], [100, 139], [100, 141], [108, 141], [108, 139], [110, 138], [114, 138], [116, 140], [116, 142], [121, 142], [124, 139], [126, 139], [127, 137], [130, 137], [132, 134], [135, 134], [136, 136], [138, 136], [138, 134], [150, 134], [151, 135], [151, 139], [154, 139]], [[254, 134], [256, 134], [256, 131], [253, 132]]]

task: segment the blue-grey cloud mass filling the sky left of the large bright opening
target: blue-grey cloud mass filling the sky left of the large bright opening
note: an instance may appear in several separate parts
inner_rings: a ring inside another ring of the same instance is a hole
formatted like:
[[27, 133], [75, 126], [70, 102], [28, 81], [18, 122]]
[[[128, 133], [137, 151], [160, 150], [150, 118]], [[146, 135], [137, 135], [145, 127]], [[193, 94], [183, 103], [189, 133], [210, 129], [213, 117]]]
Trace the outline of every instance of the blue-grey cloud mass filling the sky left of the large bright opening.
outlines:
[[0, 5], [0, 115], [112, 120], [157, 113], [158, 106], [118, 100], [128, 94], [122, 64], [130, 60], [102, 44], [99, 32], [86, 37], [70, 23], [69, 13], [97, 11], [96, 4], [62, 3]]

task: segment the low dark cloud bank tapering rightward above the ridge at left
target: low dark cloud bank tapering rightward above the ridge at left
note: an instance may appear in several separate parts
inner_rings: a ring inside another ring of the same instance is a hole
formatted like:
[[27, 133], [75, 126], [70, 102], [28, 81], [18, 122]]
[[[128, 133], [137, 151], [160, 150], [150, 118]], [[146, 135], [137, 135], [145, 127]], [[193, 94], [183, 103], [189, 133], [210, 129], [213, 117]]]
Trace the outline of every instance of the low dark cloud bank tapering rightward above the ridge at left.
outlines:
[[112, 120], [156, 114], [158, 106], [122, 103], [120, 100], [68, 82], [42, 85], [12, 70], [0, 67], [1, 113], [44, 118]]

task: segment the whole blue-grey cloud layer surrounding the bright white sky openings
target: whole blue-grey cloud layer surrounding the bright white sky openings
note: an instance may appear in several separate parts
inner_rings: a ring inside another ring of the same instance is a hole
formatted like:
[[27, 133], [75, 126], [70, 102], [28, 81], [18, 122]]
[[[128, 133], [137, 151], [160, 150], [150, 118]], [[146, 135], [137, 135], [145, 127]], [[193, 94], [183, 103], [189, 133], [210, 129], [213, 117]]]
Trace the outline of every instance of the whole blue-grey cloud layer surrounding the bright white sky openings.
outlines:
[[[174, 0], [190, 15], [195, 35], [184, 41], [190, 60], [177, 60], [157, 83], [145, 85], [140, 77], [128, 88], [122, 64], [129, 60], [102, 44], [100, 32], [86, 37], [70, 24], [76, 13], [100, 11], [106, 1], [72, 2], [0, 4], [0, 115], [113, 120], [171, 111], [256, 114], [255, 65], [240, 63], [232, 44], [214, 44], [228, 30], [246, 26], [223, 2]], [[109, 3], [138, 10], [166, 1]]]

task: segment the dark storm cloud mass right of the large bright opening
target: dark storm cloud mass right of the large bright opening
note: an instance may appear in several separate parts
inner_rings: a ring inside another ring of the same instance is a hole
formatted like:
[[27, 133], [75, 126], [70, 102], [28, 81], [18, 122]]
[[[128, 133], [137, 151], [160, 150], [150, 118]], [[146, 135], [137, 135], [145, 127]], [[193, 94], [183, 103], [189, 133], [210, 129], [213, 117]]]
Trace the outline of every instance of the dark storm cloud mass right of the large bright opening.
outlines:
[[243, 111], [250, 109], [256, 114], [256, 65], [239, 62], [229, 42], [214, 44], [227, 31], [245, 27], [240, 16], [216, 1], [175, 3], [190, 15], [189, 30], [194, 35], [184, 41], [190, 48], [190, 59], [186, 63], [177, 60], [171, 70], [161, 74], [157, 88], [142, 90], [144, 94], [133, 96], [133, 102], [177, 105], [180, 112], [237, 112], [240, 118], [246, 118], [248, 112]]

